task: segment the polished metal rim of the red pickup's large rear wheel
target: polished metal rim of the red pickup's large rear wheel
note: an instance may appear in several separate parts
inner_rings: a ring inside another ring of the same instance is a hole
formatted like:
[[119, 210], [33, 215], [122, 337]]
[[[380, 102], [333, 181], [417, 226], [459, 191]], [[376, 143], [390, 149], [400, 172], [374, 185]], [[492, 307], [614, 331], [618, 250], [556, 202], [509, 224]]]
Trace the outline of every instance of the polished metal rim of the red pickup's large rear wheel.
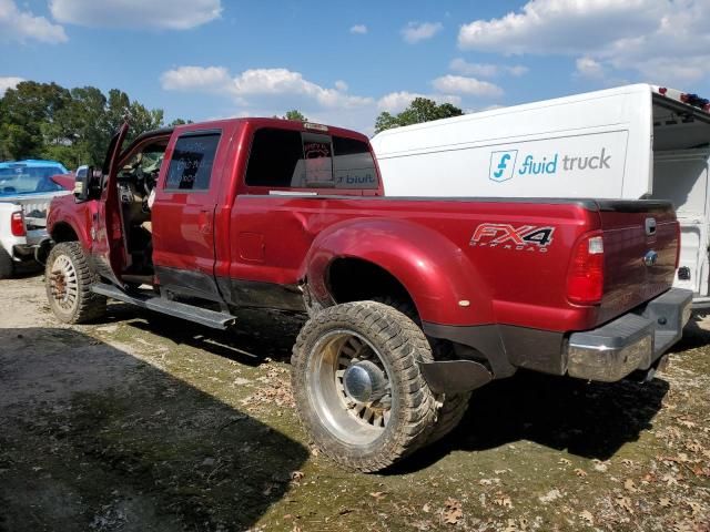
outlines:
[[[368, 378], [373, 386], [364, 391], [354, 386]], [[321, 337], [311, 352], [306, 380], [321, 423], [339, 440], [366, 446], [385, 432], [396, 397], [383, 357], [362, 335], [338, 329]]]

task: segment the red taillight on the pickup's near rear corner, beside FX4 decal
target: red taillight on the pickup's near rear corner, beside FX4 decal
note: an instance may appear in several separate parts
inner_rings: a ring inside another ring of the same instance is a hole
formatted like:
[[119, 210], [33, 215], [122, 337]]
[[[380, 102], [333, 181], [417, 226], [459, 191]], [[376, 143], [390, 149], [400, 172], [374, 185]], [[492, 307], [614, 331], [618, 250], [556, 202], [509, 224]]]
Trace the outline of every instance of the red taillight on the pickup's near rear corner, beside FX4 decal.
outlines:
[[567, 272], [567, 298], [577, 305], [596, 305], [604, 295], [604, 238], [584, 235], [575, 245]]

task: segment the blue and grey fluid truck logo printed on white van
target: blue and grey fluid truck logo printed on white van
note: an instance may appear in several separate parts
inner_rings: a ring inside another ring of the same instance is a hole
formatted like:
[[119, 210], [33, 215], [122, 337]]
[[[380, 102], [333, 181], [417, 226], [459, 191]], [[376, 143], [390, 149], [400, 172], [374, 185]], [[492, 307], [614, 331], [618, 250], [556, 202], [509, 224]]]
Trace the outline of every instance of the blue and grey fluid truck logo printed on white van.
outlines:
[[536, 158], [535, 155], [528, 154], [523, 157], [519, 167], [516, 167], [518, 160], [518, 151], [509, 150], [506, 152], [490, 152], [490, 170], [488, 177], [498, 183], [508, 181], [515, 175], [557, 175], [558, 173], [574, 172], [580, 170], [610, 170], [609, 161], [611, 155], [607, 153], [607, 149], [602, 147], [601, 152], [596, 155], [560, 155], [542, 156]]

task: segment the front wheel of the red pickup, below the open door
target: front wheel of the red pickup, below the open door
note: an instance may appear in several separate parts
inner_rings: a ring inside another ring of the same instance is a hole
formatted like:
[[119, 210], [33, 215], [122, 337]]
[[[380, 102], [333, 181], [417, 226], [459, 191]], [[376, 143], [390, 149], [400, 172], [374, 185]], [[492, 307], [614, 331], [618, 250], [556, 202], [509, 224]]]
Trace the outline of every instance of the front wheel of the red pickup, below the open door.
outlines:
[[54, 316], [65, 324], [83, 324], [103, 316], [106, 298], [91, 291], [99, 276], [78, 242], [57, 244], [44, 270], [47, 298]]

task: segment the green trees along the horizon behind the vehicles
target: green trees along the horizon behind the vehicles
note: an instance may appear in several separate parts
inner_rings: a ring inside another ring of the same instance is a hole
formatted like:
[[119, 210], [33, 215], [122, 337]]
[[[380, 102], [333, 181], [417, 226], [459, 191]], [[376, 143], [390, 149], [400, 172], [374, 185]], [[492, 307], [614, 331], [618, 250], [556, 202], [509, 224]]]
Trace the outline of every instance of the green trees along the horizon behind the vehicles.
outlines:
[[[417, 98], [400, 113], [381, 113], [375, 132], [460, 114], [463, 111], [450, 103]], [[148, 109], [119, 89], [104, 94], [95, 86], [65, 89], [57, 83], [22, 81], [0, 98], [0, 161], [50, 158], [69, 168], [100, 165], [126, 115], [131, 120], [129, 141], [150, 130], [186, 123], [178, 119], [165, 124], [162, 109]], [[307, 121], [297, 110], [283, 117]]]

